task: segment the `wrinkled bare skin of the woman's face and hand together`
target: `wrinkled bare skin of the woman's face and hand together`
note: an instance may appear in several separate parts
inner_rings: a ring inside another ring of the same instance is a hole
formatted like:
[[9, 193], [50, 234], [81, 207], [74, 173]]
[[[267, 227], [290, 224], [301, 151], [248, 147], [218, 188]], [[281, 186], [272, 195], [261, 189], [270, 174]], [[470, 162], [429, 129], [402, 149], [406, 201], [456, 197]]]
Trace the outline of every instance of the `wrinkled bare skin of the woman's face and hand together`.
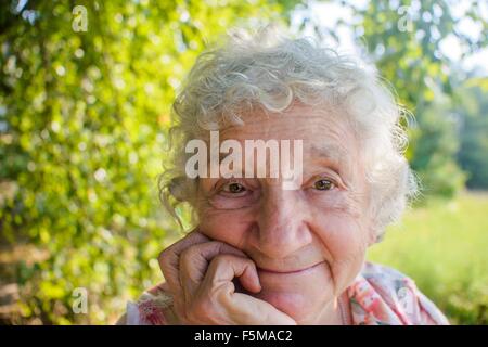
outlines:
[[281, 177], [200, 179], [197, 229], [159, 257], [180, 320], [346, 323], [337, 298], [374, 242], [361, 147], [350, 124], [338, 113], [299, 104], [244, 121], [221, 131], [220, 141], [304, 141], [301, 185], [283, 190]]

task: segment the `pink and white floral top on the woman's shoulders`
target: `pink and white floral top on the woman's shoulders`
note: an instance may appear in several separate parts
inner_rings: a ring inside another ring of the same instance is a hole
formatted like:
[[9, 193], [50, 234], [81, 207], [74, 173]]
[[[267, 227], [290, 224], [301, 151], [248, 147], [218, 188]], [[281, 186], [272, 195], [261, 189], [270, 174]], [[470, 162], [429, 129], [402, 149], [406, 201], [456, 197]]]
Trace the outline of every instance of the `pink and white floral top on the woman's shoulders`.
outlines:
[[[367, 262], [347, 288], [355, 325], [447, 325], [446, 317], [404, 274]], [[119, 324], [179, 324], [172, 298], [162, 286], [127, 305]]]

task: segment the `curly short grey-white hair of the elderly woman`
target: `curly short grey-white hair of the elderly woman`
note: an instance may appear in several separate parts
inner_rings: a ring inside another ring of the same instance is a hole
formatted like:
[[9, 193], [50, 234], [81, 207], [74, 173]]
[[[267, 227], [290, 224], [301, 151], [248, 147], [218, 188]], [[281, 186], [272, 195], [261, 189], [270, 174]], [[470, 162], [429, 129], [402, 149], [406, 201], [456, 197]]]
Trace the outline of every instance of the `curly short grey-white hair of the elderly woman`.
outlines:
[[[202, 53], [172, 105], [171, 166], [159, 180], [160, 197], [172, 216], [179, 202], [192, 202], [197, 182], [184, 174], [185, 143], [209, 130], [243, 124], [241, 115], [260, 107], [283, 112], [294, 102], [328, 105], [348, 115], [361, 141], [371, 214], [377, 240], [418, 191], [403, 156], [407, 136], [400, 107], [373, 66], [311, 38], [291, 39], [275, 27], [254, 35], [231, 33], [223, 44]], [[178, 219], [178, 217], [177, 217]]]

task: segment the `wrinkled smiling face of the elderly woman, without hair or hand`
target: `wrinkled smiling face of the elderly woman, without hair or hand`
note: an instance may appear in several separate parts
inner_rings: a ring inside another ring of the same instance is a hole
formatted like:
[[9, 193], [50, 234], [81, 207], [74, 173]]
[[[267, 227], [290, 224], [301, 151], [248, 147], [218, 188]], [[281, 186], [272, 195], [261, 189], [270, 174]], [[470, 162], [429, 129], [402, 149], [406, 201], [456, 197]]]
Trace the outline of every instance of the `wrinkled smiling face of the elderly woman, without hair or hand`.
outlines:
[[262, 286], [255, 296], [296, 321], [320, 319], [373, 241], [361, 149], [338, 116], [295, 104], [284, 114], [249, 114], [244, 126], [220, 132], [220, 141], [243, 149], [245, 140], [303, 140], [296, 190], [283, 189], [281, 176], [200, 181], [201, 232], [247, 254]]

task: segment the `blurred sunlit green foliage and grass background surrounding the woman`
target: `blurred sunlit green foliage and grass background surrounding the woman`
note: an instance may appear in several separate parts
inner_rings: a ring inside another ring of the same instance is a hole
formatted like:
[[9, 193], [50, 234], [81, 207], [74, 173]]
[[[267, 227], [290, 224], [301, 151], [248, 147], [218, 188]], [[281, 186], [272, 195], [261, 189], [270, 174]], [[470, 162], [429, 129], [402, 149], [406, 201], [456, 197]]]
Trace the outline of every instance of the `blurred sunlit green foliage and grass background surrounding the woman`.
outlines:
[[162, 280], [155, 258], [181, 236], [157, 197], [175, 91], [208, 42], [270, 22], [368, 54], [414, 113], [423, 194], [369, 257], [452, 323], [488, 322], [486, 1], [0, 7], [0, 323], [113, 323]]

